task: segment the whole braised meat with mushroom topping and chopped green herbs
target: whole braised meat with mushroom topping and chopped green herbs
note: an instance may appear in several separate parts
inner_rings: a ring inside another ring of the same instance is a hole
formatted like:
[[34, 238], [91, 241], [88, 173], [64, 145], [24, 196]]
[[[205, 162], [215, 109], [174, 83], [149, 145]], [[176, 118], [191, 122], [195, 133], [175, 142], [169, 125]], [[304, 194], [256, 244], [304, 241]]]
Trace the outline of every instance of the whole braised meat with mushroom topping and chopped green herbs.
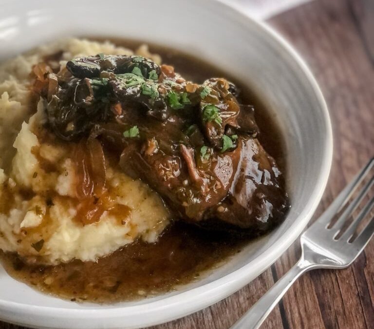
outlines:
[[66, 67], [45, 68], [38, 81], [49, 129], [72, 142], [97, 138], [176, 218], [257, 234], [284, 217], [283, 177], [233, 83], [196, 84], [137, 56], [100, 54]]

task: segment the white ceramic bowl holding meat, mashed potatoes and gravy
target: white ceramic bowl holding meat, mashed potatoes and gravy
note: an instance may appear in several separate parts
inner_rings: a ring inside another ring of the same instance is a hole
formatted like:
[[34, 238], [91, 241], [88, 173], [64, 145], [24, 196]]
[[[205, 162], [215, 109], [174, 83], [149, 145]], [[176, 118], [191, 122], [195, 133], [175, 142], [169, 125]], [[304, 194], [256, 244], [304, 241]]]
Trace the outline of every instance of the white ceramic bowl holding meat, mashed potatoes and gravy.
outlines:
[[266, 237], [178, 291], [115, 305], [47, 296], [0, 267], [0, 318], [39, 328], [137, 328], [177, 319], [239, 290], [270, 266], [308, 223], [332, 160], [326, 104], [309, 69], [276, 32], [214, 0], [3, 0], [0, 59], [63, 36], [142, 39], [200, 56], [248, 84], [280, 122], [292, 209]]

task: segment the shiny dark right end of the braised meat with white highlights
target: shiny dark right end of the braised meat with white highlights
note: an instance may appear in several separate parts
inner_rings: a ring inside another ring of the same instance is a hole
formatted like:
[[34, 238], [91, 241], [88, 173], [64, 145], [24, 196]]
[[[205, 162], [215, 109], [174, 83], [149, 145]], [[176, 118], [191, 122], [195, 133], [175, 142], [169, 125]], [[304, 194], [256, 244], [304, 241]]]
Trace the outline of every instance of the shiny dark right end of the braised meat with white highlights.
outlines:
[[201, 225], [217, 226], [219, 219], [228, 229], [264, 232], [280, 222], [288, 210], [281, 172], [257, 139], [242, 139], [240, 143], [241, 157], [230, 191], [204, 213]]

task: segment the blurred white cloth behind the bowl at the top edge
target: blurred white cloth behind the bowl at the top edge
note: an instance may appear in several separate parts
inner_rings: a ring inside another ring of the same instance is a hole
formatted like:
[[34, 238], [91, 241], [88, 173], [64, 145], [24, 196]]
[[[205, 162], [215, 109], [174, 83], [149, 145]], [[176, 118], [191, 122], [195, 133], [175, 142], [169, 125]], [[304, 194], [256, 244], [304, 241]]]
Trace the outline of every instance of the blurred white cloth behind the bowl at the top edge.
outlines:
[[311, 0], [221, 0], [257, 19], [268, 19]]

